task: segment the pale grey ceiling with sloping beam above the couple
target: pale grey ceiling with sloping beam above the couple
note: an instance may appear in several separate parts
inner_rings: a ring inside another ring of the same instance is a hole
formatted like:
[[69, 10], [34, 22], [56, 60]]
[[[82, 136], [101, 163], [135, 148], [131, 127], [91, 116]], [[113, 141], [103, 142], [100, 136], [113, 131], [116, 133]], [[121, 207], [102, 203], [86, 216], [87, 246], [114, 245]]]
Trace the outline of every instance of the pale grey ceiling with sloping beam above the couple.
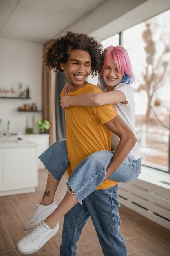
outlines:
[[0, 0], [0, 38], [44, 44], [72, 30], [104, 40], [169, 8], [170, 0]]

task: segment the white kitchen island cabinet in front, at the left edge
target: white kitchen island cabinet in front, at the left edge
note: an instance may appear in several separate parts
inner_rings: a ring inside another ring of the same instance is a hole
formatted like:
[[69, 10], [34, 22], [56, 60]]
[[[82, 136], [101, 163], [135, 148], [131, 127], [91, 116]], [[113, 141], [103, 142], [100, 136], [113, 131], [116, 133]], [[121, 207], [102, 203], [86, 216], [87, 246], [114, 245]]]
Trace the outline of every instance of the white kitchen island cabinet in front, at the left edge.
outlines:
[[37, 144], [0, 140], [0, 196], [34, 192], [38, 186]]

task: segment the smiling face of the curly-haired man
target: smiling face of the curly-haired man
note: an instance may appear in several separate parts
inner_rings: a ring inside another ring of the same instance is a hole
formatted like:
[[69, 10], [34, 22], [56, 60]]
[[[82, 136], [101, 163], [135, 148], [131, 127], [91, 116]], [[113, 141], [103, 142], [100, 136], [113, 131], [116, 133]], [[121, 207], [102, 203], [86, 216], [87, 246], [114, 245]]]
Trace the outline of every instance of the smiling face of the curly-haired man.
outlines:
[[68, 89], [70, 92], [78, 90], [86, 83], [86, 78], [91, 72], [91, 56], [82, 50], [73, 50], [66, 63], [61, 63], [64, 70]]

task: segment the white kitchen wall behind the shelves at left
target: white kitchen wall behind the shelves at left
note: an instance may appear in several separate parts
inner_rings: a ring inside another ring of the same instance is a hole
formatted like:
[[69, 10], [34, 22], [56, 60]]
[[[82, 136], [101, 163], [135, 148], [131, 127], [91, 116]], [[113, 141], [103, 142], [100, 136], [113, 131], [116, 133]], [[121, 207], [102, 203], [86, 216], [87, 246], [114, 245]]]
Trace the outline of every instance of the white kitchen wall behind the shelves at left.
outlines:
[[[24, 134], [26, 118], [29, 127], [32, 127], [33, 113], [17, 112], [18, 106], [37, 103], [38, 110], [42, 108], [42, 54], [41, 44], [0, 39], [0, 88], [18, 88], [18, 82], [22, 82], [23, 88], [29, 85], [32, 98], [0, 99], [0, 129], [4, 133], [7, 132], [8, 120], [11, 133]], [[34, 113], [34, 117], [36, 121], [41, 113]], [[36, 126], [35, 132], [38, 132]]]

